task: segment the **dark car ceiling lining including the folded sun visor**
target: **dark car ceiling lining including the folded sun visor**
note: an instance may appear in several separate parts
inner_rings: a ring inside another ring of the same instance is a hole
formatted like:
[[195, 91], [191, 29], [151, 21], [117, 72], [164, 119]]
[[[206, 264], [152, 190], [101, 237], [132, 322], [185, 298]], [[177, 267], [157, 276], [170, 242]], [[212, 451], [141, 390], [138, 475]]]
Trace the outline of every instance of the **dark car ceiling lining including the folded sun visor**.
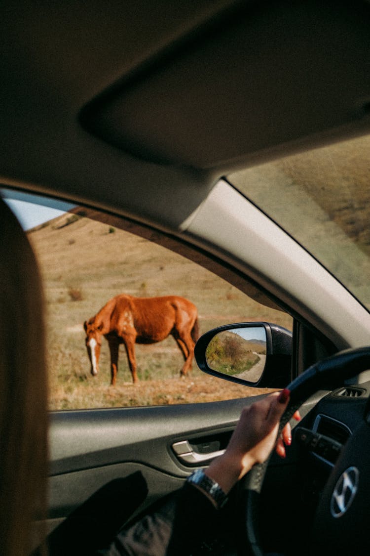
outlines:
[[[258, 23], [260, 6], [266, 16]], [[288, 29], [290, 38], [296, 36], [294, 22], [311, 8], [321, 23], [312, 28], [312, 38], [308, 32], [305, 36], [306, 43], [315, 43], [312, 56], [320, 56], [323, 64], [322, 95], [312, 90], [313, 81], [308, 83], [311, 103], [297, 95], [297, 72], [302, 75], [307, 68], [297, 47], [280, 61], [281, 79], [261, 98], [261, 83], [276, 74], [277, 59], [268, 54], [285, 46]], [[288, 17], [278, 17], [278, 9]], [[368, 130], [368, 22], [367, 2], [38, 0], [15, 7], [4, 0], [0, 180], [177, 229], [227, 172]], [[267, 23], [278, 29], [269, 41], [263, 34]], [[237, 43], [232, 26], [239, 29]], [[256, 75], [246, 120], [240, 114], [250, 82], [243, 83], [246, 90], [236, 86], [243, 69], [236, 47], [244, 29], [254, 40], [246, 43], [242, 60]], [[330, 56], [325, 29], [334, 29], [331, 36], [336, 36], [338, 48]], [[230, 60], [227, 75], [225, 63], [220, 67], [220, 48]], [[209, 106], [198, 101], [214, 82], [202, 82], [199, 64], [220, 87], [217, 95], [209, 95]], [[289, 79], [292, 66], [296, 72]], [[327, 71], [331, 68], [340, 72], [335, 73], [337, 87]], [[189, 80], [179, 82], [185, 69]], [[346, 87], [341, 87], [344, 77]], [[171, 95], [164, 95], [171, 80]], [[112, 94], [118, 112], [111, 106]], [[153, 95], [155, 113], [141, 110], [148, 95]], [[168, 106], [171, 114], [164, 118]], [[266, 106], [268, 122], [260, 121]]]

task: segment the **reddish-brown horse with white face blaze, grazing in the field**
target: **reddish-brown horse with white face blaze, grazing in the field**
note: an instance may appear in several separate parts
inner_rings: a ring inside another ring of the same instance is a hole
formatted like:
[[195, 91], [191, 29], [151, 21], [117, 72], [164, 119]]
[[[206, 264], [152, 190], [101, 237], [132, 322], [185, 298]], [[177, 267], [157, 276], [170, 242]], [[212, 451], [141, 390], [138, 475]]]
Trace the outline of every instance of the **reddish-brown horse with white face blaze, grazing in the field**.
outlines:
[[133, 297], [116, 295], [88, 321], [84, 322], [86, 347], [91, 363], [91, 374], [99, 370], [102, 336], [110, 350], [110, 384], [114, 385], [118, 370], [118, 349], [124, 344], [134, 383], [136, 374], [136, 344], [154, 344], [171, 335], [176, 340], [185, 363], [180, 375], [185, 376], [194, 358], [198, 338], [197, 309], [184, 297]]

